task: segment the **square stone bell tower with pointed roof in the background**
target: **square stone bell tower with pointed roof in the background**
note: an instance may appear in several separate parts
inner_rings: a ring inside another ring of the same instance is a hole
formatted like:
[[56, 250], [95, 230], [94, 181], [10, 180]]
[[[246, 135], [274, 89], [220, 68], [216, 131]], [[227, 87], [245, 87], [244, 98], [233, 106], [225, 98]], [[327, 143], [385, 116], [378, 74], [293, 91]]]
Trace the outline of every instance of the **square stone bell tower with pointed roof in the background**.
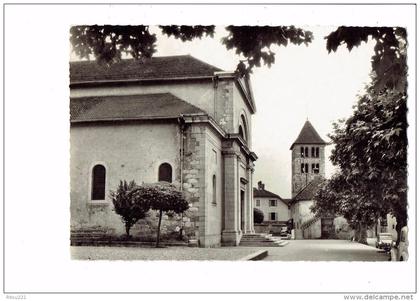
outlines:
[[325, 178], [325, 145], [312, 124], [307, 120], [293, 142], [292, 198], [312, 180]]

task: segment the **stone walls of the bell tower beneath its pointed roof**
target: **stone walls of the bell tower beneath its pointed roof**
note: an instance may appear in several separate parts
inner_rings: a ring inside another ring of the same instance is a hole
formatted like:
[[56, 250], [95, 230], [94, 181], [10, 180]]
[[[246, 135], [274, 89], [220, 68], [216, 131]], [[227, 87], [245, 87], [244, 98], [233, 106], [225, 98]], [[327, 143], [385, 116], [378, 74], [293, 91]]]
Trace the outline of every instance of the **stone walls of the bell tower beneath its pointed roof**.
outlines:
[[[302, 158], [300, 153], [301, 147], [308, 147], [309, 157]], [[319, 158], [312, 158], [311, 147], [319, 147]], [[308, 163], [309, 173], [301, 173], [301, 163]], [[319, 164], [319, 173], [314, 174], [311, 170], [312, 163]], [[292, 197], [302, 190], [309, 182], [316, 177], [325, 178], [325, 147], [313, 144], [296, 144], [292, 149]]]

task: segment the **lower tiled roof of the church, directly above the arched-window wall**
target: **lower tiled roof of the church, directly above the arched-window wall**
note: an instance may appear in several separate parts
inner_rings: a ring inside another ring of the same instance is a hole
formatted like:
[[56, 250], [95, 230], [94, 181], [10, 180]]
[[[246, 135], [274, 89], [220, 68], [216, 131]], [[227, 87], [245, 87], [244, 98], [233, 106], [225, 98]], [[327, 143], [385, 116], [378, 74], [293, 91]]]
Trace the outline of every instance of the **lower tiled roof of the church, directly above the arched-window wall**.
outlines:
[[71, 122], [176, 118], [204, 113], [170, 93], [70, 99]]

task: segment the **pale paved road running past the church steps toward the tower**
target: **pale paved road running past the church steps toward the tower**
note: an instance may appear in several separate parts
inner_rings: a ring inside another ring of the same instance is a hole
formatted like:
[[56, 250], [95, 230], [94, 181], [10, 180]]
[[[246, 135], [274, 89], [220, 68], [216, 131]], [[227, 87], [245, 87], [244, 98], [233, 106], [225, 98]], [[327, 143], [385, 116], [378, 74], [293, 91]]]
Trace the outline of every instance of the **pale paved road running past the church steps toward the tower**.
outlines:
[[372, 246], [347, 240], [291, 240], [282, 248], [266, 248], [264, 260], [387, 261], [389, 255]]

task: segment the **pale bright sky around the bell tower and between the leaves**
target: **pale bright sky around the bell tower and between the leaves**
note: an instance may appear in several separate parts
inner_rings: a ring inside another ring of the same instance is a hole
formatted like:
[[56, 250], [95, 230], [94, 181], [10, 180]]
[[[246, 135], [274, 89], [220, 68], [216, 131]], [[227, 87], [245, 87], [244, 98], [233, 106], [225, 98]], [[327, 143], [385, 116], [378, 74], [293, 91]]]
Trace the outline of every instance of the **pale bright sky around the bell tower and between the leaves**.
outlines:
[[[257, 112], [252, 117], [252, 150], [257, 154], [254, 186], [258, 181], [283, 198], [291, 197], [291, 144], [306, 119], [329, 141], [332, 123], [347, 118], [358, 95], [369, 82], [373, 43], [349, 52], [341, 46], [328, 54], [324, 39], [336, 27], [304, 27], [313, 32], [308, 46], [272, 47], [275, 63], [255, 68], [251, 76]], [[159, 31], [156, 31], [158, 34]], [[239, 56], [220, 43], [226, 35], [217, 27], [214, 38], [180, 42], [158, 35], [156, 55], [190, 54], [226, 71], [234, 70]], [[326, 177], [335, 168], [326, 149]]]

